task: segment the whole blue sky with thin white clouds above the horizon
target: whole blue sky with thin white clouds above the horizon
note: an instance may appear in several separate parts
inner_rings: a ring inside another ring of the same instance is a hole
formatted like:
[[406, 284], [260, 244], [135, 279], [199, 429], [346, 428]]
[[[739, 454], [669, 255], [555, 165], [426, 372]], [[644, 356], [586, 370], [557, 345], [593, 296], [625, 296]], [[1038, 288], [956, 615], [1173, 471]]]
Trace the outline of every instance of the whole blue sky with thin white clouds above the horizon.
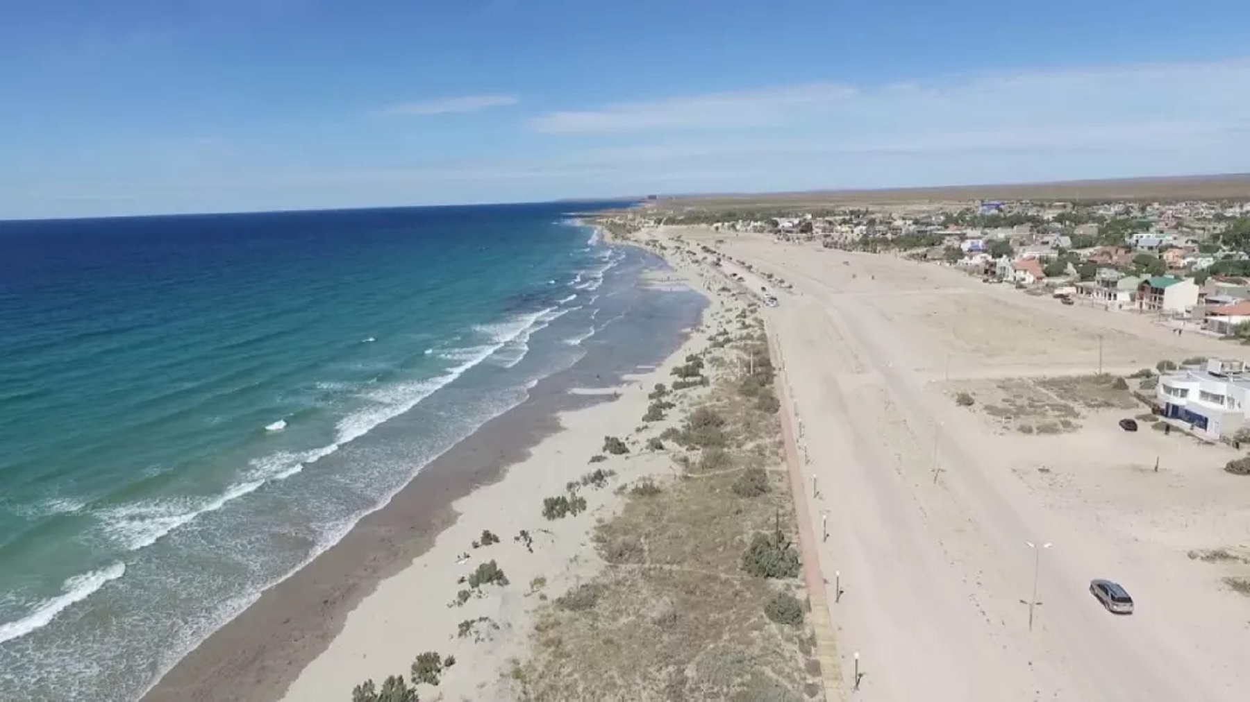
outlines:
[[0, 217], [1250, 171], [1244, 0], [41, 0]]

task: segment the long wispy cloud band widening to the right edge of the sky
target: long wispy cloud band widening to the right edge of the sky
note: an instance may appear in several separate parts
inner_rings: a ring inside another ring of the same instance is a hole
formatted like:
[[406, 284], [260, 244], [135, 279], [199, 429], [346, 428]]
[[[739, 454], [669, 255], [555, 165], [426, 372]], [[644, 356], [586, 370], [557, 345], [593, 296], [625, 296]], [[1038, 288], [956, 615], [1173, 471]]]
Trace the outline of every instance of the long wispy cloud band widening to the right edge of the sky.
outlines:
[[[1250, 61], [1136, 65], [955, 76], [876, 85], [810, 84], [740, 92], [635, 101], [552, 111], [530, 121], [558, 135], [718, 134], [752, 140], [776, 135], [841, 135], [852, 140], [908, 141], [941, 130], [956, 134], [1092, 129], [1118, 139], [1118, 125], [1250, 117]], [[766, 131], [760, 127], [769, 127]], [[1159, 130], [1156, 130], [1159, 131]], [[702, 135], [700, 135], [702, 136]], [[956, 140], [958, 141], [958, 140]]]

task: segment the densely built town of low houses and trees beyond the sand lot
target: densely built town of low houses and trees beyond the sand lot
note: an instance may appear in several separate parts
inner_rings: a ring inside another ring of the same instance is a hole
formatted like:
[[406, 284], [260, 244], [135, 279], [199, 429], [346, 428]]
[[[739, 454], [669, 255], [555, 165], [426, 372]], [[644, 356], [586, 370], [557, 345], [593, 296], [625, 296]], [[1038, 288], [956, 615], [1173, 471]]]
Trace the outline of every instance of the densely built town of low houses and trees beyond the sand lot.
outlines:
[[650, 222], [770, 234], [826, 249], [954, 266], [1064, 304], [1150, 315], [1180, 331], [1250, 339], [1250, 202], [909, 204], [689, 211]]

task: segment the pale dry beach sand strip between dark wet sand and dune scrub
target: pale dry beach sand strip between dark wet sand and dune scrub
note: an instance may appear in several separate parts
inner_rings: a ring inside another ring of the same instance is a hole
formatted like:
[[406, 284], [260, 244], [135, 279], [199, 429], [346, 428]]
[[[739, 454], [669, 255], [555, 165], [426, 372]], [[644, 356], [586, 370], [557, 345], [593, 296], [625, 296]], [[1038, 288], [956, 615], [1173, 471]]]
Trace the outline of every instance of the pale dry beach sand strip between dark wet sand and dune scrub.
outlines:
[[[695, 289], [701, 285], [689, 274], [652, 277], [651, 282], [690, 284]], [[708, 314], [714, 314], [718, 306], [714, 299]], [[615, 471], [611, 486], [671, 471], [665, 453], [648, 453], [639, 445], [626, 456], [608, 455], [594, 465], [589, 460], [604, 455], [605, 435], [624, 435], [636, 426], [638, 417], [646, 411], [648, 391], [658, 382], [668, 382], [672, 366], [705, 344], [705, 334], [692, 331], [664, 363], [626, 377], [619, 387], [574, 388], [574, 395], [611, 401], [561, 412], [556, 417], [559, 430], [531, 448], [522, 461], [509, 466], [502, 480], [458, 500], [452, 505], [459, 515], [456, 522], [435, 537], [429, 551], [379, 583], [348, 615], [342, 631], [299, 675], [282, 700], [348, 700], [355, 682], [366, 678], [380, 682], [388, 675], [406, 673], [414, 656], [422, 651], [438, 651], [458, 661], [439, 683], [441, 698], [514, 698], [511, 683], [502, 673], [510, 661], [525, 656], [531, 611], [540, 602], [539, 596], [564, 592], [595, 572], [589, 531], [616, 502], [610, 488], [588, 490], [582, 492], [588, 501], [585, 512], [545, 521], [539, 516], [544, 497], [561, 493], [568, 482], [595, 468]], [[502, 542], [474, 548], [471, 543], [484, 530], [499, 535]], [[514, 542], [521, 530], [532, 535], [532, 552]], [[504, 570], [511, 587], [484, 588], [481, 597], [450, 606], [464, 587], [458, 578], [489, 560]], [[475, 627], [470, 636], [458, 636], [459, 622], [482, 617], [491, 623]]]

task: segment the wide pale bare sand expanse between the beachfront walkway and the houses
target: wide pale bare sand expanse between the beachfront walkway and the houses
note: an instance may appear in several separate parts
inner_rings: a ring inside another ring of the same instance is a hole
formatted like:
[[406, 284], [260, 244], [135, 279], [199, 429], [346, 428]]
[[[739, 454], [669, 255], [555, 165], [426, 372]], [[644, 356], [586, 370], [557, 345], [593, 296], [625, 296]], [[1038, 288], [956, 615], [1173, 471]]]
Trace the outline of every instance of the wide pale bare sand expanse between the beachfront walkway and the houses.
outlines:
[[[1224, 580], [1250, 576], [1250, 478], [1221, 470], [1236, 452], [1122, 432], [1141, 408], [1042, 380], [1244, 347], [890, 255], [696, 227], [640, 236], [714, 246], [794, 286], [766, 321], [859, 698], [1250, 698], [1250, 598]], [[981, 402], [958, 406], [969, 390]], [[1136, 613], [1104, 611], [1091, 578], [1121, 582]]]

